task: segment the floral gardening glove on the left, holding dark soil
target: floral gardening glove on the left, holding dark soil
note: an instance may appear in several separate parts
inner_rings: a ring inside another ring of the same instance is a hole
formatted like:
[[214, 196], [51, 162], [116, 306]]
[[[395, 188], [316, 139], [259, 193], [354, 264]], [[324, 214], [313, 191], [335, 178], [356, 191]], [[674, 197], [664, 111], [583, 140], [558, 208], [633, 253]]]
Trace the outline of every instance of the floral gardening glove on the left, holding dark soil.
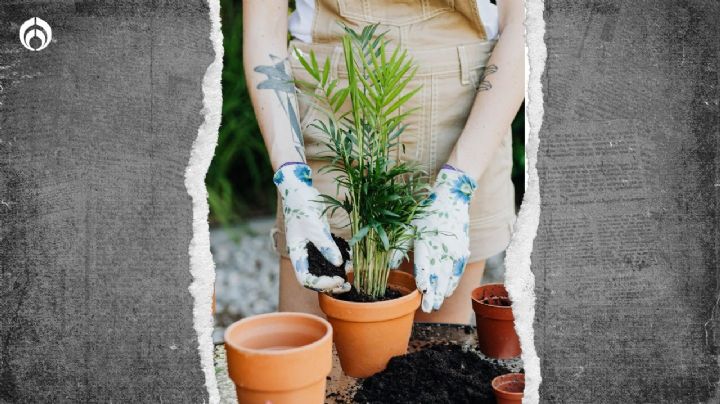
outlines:
[[282, 198], [288, 254], [301, 285], [319, 292], [344, 293], [350, 290], [345, 279], [315, 276], [308, 269], [308, 242], [312, 242], [333, 265], [343, 263], [323, 213], [320, 192], [312, 186], [311, 174], [307, 164], [285, 163], [273, 176]]

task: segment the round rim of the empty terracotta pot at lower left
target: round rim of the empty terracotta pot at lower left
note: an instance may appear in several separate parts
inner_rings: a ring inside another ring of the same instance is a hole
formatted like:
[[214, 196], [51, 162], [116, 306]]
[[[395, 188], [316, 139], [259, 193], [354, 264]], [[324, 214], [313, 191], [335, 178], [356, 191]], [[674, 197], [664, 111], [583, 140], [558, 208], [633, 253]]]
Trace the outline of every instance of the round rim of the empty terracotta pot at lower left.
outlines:
[[[281, 350], [272, 350], [272, 349], [254, 349], [254, 348], [248, 348], [241, 344], [238, 344], [237, 342], [233, 341], [231, 338], [228, 338], [230, 334], [238, 327], [253, 323], [255, 321], [262, 321], [265, 319], [272, 319], [274, 317], [277, 317], [279, 321], [282, 321], [282, 318], [304, 318], [308, 319], [310, 321], [315, 321], [325, 327], [325, 332], [323, 335], [318, 338], [317, 340], [307, 344], [302, 345], [295, 348], [287, 348], [287, 349], [281, 349]], [[302, 352], [306, 350], [311, 350], [317, 347], [320, 347], [323, 344], [326, 344], [328, 340], [332, 340], [332, 325], [325, 320], [322, 317], [316, 316], [314, 314], [308, 314], [308, 313], [297, 313], [297, 312], [275, 312], [275, 313], [265, 313], [265, 314], [257, 314], [254, 316], [246, 317], [241, 320], [238, 320], [232, 324], [228, 328], [225, 329], [225, 333], [223, 334], [223, 339], [225, 340], [225, 344], [229, 345], [232, 349], [237, 350], [238, 352], [242, 352], [245, 354], [253, 354], [253, 355], [265, 355], [265, 356], [285, 356], [297, 352]]]

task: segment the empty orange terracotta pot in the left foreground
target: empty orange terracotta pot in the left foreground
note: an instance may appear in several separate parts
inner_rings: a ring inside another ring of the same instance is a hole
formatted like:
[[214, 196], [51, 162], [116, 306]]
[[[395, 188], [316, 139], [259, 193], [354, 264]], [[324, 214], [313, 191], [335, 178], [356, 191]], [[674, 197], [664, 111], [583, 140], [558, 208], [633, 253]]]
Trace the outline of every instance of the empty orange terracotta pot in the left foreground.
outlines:
[[228, 373], [243, 404], [323, 403], [332, 326], [304, 313], [270, 313], [225, 331]]

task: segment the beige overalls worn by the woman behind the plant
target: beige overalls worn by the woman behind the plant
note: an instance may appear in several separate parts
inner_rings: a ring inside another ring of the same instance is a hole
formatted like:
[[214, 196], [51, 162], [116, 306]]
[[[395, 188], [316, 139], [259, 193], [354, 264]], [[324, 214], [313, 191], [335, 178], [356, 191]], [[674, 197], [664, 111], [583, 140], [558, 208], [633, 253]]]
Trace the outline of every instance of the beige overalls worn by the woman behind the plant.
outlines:
[[[422, 86], [422, 89], [408, 105], [419, 109], [406, 121], [408, 128], [401, 137], [405, 152], [400, 158], [422, 163], [434, 178], [465, 126], [480, 75], [495, 45], [495, 41], [486, 39], [476, 1], [316, 0], [313, 43], [294, 40], [290, 48], [292, 51], [297, 47], [306, 54], [312, 49], [321, 63], [330, 57], [331, 75], [342, 80], [347, 75], [342, 67], [339, 39], [343, 30], [339, 22], [356, 30], [380, 23], [378, 32], [387, 31], [392, 44], [404, 47], [412, 55], [418, 72], [408, 88]], [[290, 61], [296, 78], [311, 80], [296, 58], [291, 56]], [[318, 168], [325, 164], [317, 160], [324, 151], [323, 136], [309, 126], [322, 115], [308, 106], [305, 97], [300, 98], [305, 152], [313, 169], [313, 184], [320, 193], [335, 194], [333, 178], [318, 173]], [[470, 206], [470, 262], [499, 253], [510, 240], [515, 221], [511, 170], [512, 138], [508, 129], [493, 161], [478, 181]], [[280, 206], [277, 212], [275, 242], [278, 251], [287, 257]], [[349, 239], [347, 220], [347, 214], [340, 211], [329, 217], [332, 231]]]

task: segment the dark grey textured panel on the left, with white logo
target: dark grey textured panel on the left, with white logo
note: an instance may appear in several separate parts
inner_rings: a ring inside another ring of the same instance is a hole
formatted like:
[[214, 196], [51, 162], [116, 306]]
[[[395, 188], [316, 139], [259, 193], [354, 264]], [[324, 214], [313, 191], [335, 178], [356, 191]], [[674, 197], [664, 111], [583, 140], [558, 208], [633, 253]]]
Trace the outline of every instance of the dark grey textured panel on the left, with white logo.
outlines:
[[183, 175], [209, 33], [202, 0], [0, 4], [0, 402], [207, 401]]

